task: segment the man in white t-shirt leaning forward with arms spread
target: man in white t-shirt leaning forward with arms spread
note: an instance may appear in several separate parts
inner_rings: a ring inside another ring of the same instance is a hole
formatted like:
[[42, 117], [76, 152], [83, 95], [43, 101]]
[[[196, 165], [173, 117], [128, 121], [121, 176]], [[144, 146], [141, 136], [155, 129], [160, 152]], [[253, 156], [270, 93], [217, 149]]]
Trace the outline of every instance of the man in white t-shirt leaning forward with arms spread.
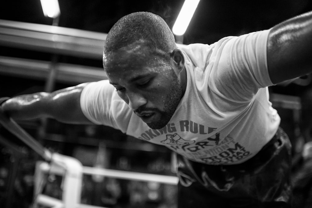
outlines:
[[289, 207], [290, 142], [267, 87], [312, 71], [312, 12], [212, 45], [178, 48], [157, 15], [110, 30], [108, 80], [13, 97], [13, 119], [95, 123], [178, 153], [178, 207]]

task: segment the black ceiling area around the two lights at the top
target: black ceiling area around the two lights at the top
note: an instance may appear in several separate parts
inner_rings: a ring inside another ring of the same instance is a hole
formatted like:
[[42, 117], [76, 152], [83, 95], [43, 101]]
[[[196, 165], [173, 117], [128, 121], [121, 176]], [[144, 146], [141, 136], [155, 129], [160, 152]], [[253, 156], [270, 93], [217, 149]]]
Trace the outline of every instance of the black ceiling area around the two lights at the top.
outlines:
[[[59, 0], [59, 26], [107, 33], [122, 16], [149, 11], [163, 17], [172, 28], [184, 0]], [[312, 10], [310, 0], [201, 0], [184, 35], [184, 43], [212, 43], [272, 27], [289, 17]], [[40, 0], [5, 1], [0, 19], [52, 24], [44, 17]]]

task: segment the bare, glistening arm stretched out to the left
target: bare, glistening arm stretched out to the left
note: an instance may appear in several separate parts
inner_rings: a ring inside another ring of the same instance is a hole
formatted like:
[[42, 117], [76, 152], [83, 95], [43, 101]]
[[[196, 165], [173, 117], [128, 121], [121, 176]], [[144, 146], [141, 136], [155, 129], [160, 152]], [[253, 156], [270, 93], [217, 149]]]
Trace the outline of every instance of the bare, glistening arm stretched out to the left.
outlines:
[[54, 118], [71, 124], [91, 124], [80, 108], [80, 94], [86, 83], [55, 92], [38, 92], [13, 97], [4, 102], [2, 110], [16, 120], [39, 117]]

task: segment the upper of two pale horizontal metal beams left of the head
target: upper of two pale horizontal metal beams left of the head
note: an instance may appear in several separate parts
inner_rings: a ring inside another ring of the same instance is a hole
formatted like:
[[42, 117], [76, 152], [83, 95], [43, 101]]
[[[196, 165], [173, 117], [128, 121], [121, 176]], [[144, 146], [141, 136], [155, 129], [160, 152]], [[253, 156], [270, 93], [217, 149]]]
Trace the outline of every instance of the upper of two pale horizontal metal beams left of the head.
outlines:
[[0, 20], [0, 45], [74, 57], [102, 59], [106, 33]]

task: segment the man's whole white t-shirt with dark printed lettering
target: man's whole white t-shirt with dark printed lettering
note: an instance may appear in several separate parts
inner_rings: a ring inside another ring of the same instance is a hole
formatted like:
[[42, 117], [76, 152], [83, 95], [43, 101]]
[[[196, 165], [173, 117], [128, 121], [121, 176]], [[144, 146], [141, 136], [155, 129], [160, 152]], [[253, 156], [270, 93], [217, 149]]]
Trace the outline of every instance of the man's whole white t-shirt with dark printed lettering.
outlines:
[[150, 129], [136, 116], [108, 80], [84, 88], [81, 109], [95, 124], [167, 146], [196, 162], [244, 162], [270, 141], [280, 124], [267, 89], [273, 85], [266, 61], [268, 33], [181, 46], [187, 87], [171, 120], [160, 130]]

